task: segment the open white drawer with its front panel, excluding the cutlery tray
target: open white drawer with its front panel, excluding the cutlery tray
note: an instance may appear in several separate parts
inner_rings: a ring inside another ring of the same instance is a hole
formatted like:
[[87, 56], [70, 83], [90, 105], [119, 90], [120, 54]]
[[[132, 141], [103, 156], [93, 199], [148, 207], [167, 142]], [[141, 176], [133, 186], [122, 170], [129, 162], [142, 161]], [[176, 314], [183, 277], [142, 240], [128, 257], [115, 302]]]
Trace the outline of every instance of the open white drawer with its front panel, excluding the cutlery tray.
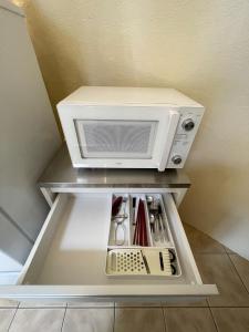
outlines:
[[105, 273], [112, 193], [59, 194], [15, 286], [0, 297], [17, 300], [163, 300], [218, 293], [203, 284], [172, 194], [163, 194], [181, 266], [178, 278], [110, 278]]

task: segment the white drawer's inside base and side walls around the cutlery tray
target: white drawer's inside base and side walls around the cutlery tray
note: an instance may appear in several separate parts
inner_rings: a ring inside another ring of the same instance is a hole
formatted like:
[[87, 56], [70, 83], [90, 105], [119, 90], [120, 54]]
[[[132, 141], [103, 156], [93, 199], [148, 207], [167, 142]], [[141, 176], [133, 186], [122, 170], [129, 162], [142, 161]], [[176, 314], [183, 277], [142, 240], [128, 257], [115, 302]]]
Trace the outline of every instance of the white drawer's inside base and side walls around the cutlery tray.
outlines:
[[[122, 195], [125, 195], [123, 193]], [[23, 268], [19, 284], [203, 284], [170, 194], [162, 196], [181, 267], [178, 278], [110, 278], [105, 273], [112, 194], [60, 194]]]

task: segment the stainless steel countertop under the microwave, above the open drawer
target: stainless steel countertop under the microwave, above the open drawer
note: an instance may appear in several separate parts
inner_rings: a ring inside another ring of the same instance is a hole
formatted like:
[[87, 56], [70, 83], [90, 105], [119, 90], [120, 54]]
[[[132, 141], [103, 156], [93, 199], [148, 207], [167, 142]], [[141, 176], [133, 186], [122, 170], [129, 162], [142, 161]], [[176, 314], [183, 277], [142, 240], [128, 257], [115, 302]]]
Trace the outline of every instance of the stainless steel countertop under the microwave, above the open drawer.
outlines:
[[181, 169], [73, 168], [65, 144], [38, 180], [40, 188], [189, 188]]

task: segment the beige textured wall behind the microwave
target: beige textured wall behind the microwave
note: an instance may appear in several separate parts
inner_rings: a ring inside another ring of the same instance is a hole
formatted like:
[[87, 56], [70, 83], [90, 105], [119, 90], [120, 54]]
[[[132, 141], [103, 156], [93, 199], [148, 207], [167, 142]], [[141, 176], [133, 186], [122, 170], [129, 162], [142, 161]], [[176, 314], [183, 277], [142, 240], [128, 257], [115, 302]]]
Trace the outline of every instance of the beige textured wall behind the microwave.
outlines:
[[249, 258], [249, 1], [33, 0], [27, 14], [53, 104], [89, 84], [173, 86], [207, 107], [180, 212]]

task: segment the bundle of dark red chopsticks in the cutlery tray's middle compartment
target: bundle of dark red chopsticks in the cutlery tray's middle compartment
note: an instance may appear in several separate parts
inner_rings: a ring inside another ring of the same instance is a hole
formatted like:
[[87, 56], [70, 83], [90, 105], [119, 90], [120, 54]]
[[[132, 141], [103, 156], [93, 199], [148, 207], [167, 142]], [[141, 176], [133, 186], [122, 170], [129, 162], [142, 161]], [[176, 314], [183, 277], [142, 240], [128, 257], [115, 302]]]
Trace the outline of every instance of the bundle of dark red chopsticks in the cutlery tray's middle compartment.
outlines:
[[144, 201], [139, 199], [133, 245], [148, 247]]

